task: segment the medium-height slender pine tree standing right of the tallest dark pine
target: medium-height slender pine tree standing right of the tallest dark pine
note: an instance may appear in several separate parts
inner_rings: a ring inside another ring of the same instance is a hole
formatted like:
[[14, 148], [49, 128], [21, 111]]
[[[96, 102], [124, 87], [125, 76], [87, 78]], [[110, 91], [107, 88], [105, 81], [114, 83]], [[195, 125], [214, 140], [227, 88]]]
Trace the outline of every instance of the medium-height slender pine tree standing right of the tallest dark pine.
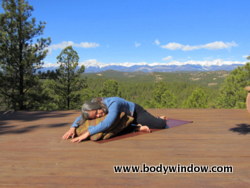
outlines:
[[78, 68], [79, 56], [68, 46], [57, 57], [60, 67], [59, 76], [55, 82], [55, 93], [58, 95], [60, 109], [78, 108], [81, 105], [81, 90], [86, 87], [86, 81], [81, 78], [85, 71], [84, 65]]

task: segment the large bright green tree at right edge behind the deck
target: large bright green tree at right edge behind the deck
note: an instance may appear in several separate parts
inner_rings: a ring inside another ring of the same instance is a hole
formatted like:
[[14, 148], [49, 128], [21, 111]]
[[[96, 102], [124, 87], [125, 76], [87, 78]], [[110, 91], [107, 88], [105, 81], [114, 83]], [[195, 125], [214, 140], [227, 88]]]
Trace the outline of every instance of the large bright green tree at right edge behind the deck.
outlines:
[[219, 108], [245, 108], [247, 92], [250, 85], [250, 63], [233, 70], [225, 79], [217, 100]]

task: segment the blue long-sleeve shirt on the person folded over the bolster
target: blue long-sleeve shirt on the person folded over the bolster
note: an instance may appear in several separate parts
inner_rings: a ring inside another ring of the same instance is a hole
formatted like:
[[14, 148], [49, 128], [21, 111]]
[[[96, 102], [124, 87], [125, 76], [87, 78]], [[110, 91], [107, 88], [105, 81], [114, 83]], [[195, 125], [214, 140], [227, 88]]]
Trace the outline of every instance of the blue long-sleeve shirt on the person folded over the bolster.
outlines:
[[[122, 99], [120, 97], [104, 98], [103, 103], [108, 108], [108, 114], [106, 118], [96, 126], [89, 126], [88, 131], [90, 135], [108, 129], [116, 120], [117, 116], [120, 115], [121, 112], [125, 112], [125, 114], [129, 116], [133, 116], [134, 114], [135, 103], [126, 101], [125, 99]], [[81, 118], [82, 116], [77, 117], [71, 127], [78, 127]]]

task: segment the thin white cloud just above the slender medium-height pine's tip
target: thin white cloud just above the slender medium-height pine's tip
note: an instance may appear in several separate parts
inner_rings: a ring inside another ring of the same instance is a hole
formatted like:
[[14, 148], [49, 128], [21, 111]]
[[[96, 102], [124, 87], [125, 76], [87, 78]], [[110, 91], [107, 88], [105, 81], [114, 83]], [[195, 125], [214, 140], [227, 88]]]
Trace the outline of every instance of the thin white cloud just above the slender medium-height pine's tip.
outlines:
[[59, 44], [52, 44], [48, 47], [49, 51], [52, 50], [58, 50], [58, 49], [64, 49], [67, 46], [73, 46], [77, 48], [96, 48], [99, 47], [100, 44], [95, 43], [95, 42], [81, 42], [81, 43], [74, 43], [72, 41], [63, 41]]

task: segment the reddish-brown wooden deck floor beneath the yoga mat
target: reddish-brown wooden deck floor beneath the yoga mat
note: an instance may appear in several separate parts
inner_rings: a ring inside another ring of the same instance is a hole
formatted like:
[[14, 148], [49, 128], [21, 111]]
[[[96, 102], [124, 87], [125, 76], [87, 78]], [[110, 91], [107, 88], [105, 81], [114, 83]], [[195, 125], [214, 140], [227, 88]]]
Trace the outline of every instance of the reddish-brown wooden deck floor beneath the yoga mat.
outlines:
[[[246, 110], [166, 109], [194, 123], [98, 144], [62, 134], [76, 111], [0, 114], [0, 187], [250, 187]], [[114, 173], [114, 165], [232, 165], [233, 173]]]

